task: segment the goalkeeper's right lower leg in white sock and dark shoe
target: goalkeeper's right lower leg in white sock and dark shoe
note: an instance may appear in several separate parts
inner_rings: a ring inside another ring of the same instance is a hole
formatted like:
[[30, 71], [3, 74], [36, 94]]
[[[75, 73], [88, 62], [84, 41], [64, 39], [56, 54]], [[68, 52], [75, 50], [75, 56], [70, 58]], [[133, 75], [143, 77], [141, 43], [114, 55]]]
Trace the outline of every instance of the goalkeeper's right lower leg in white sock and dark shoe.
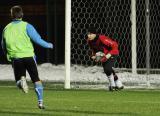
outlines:
[[116, 90], [121, 90], [124, 88], [121, 80], [119, 79], [119, 77], [116, 75], [115, 71], [113, 70], [113, 76], [114, 76], [114, 82], [115, 82], [115, 89]]

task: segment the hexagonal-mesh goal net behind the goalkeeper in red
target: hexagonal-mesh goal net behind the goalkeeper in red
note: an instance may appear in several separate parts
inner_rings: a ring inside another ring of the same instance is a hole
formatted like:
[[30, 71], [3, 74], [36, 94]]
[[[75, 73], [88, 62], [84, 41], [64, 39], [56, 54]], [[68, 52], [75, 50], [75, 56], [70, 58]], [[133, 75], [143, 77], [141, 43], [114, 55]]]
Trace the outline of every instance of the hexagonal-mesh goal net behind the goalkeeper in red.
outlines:
[[126, 86], [160, 83], [159, 14], [158, 0], [136, 0], [134, 4], [132, 0], [71, 0], [71, 86], [104, 88], [108, 82], [101, 64], [89, 56], [86, 34], [91, 25], [119, 43], [115, 70]]

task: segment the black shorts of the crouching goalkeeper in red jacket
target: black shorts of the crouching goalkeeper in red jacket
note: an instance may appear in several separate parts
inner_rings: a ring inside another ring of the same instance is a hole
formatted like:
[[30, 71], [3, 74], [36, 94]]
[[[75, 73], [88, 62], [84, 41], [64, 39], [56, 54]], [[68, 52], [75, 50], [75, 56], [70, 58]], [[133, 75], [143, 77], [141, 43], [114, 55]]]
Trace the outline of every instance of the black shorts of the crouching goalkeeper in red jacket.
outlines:
[[102, 63], [103, 70], [107, 76], [110, 76], [114, 73], [113, 67], [116, 62], [116, 56], [112, 56], [106, 62]]

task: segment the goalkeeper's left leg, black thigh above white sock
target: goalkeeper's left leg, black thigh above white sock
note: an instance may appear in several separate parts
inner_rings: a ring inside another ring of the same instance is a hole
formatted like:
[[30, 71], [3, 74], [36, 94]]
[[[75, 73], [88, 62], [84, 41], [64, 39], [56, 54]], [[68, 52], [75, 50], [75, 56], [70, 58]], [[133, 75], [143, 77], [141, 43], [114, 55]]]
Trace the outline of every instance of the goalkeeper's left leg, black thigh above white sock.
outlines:
[[113, 64], [114, 63], [110, 59], [102, 64], [104, 72], [107, 75], [109, 80], [109, 91], [113, 91], [115, 89], [115, 82], [114, 82], [113, 69], [112, 69]]

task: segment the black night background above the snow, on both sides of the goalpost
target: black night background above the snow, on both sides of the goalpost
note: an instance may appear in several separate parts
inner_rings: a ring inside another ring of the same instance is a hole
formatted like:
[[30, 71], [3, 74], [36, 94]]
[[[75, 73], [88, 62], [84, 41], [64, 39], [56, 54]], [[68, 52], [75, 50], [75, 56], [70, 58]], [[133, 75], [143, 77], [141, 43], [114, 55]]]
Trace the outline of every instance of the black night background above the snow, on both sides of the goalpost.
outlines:
[[[14, 3], [13, 3], [14, 2]], [[136, 0], [137, 67], [146, 67], [146, 0]], [[49, 50], [35, 45], [38, 63], [64, 64], [65, 0], [0, 0], [0, 36], [11, 21], [9, 13], [14, 5], [24, 10], [23, 20], [31, 23], [42, 38], [54, 44]], [[102, 7], [97, 7], [97, 5]], [[160, 2], [150, 0], [150, 65], [160, 67]], [[88, 55], [85, 40], [91, 25], [98, 32], [119, 43], [120, 54], [116, 67], [131, 68], [131, 1], [130, 0], [72, 0], [71, 2], [71, 63], [95, 65]], [[105, 23], [104, 23], [105, 22]], [[0, 39], [1, 40], [1, 39]], [[0, 63], [7, 63], [0, 47]]]

